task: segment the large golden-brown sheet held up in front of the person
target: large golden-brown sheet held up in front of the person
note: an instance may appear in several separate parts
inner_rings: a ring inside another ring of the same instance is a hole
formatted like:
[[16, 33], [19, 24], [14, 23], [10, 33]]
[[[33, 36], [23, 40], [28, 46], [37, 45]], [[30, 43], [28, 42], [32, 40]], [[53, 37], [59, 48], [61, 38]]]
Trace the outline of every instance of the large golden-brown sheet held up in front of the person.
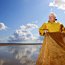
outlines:
[[46, 33], [36, 65], [65, 65], [65, 33]]

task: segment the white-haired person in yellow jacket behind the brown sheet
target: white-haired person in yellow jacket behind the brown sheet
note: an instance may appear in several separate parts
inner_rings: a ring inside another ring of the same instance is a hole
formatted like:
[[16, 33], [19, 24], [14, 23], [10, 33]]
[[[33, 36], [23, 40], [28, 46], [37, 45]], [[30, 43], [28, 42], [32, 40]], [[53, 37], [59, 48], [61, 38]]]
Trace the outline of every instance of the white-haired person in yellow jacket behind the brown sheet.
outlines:
[[48, 22], [45, 22], [39, 28], [39, 33], [41, 36], [43, 36], [46, 32], [65, 32], [64, 25], [57, 21], [56, 14], [53, 12], [49, 14]]

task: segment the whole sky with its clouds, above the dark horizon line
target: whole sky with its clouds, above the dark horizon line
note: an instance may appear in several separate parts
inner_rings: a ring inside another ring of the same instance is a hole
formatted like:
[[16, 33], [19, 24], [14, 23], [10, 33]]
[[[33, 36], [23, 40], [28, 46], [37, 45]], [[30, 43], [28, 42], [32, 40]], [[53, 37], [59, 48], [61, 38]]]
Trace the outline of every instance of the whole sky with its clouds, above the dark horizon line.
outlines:
[[51, 11], [65, 25], [64, 0], [0, 0], [0, 42], [41, 42], [39, 27]]

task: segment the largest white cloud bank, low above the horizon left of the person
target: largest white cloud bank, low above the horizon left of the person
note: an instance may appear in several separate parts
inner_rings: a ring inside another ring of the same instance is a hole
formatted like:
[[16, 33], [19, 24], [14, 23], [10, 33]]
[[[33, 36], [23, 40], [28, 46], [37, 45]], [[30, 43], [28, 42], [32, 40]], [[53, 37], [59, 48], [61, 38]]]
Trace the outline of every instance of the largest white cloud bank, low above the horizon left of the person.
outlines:
[[33, 35], [32, 31], [37, 29], [38, 26], [36, 24], [26, 24], [20, 26], [13, 35], [9, 37], [9, 42], [21, 42], [21, 41], [33, 41], [36, 37]]

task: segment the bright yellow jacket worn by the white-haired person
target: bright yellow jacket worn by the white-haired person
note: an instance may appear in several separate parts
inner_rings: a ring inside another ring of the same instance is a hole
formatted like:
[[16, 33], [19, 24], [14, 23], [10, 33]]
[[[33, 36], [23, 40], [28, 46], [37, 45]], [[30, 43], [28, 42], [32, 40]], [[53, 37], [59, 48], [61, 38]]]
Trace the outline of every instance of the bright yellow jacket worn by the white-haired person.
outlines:
[[55, 21], [53, 23], [51, 23], [51, 22], [44, 23], [39, 28], [39, 33], [40, 33], [41, 36], [44, 35], [45, 29], [48, 30], [48, 32], [61, 32], [61, 31], [65, 32], [64, 26], [57, 21]]

